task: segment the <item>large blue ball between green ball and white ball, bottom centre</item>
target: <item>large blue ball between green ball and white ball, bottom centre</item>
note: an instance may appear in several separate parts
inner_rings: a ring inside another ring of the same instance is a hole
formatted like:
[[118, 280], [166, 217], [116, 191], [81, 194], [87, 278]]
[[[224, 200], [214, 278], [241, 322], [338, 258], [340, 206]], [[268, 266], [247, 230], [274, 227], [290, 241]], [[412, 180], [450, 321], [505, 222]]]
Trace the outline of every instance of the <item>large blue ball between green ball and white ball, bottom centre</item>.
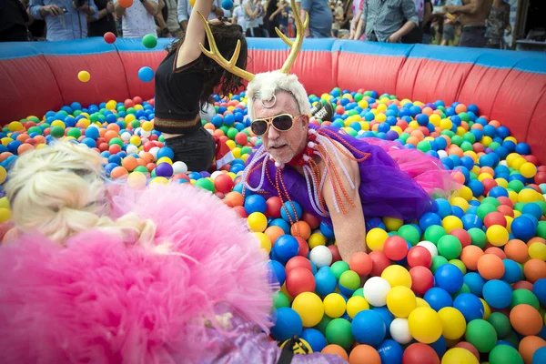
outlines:
[[365, 309], [352, 319], [351, 331], [359, 344], [377, 347], [385, 339], [387, 326], [379, 313]]

